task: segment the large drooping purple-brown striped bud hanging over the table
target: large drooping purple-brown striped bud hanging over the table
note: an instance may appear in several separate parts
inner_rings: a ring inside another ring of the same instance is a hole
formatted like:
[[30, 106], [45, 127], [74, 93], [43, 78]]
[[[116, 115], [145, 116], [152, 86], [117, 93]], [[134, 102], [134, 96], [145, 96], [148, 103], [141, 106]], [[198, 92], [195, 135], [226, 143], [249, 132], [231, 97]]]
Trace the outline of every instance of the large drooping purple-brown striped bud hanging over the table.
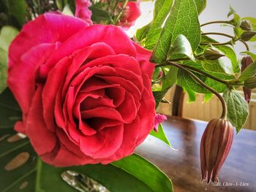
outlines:
[[225, 119], [210, 120], [200, 143], [202, 180], [219, 183], [218, 174], [233, 142], [232, 124]]

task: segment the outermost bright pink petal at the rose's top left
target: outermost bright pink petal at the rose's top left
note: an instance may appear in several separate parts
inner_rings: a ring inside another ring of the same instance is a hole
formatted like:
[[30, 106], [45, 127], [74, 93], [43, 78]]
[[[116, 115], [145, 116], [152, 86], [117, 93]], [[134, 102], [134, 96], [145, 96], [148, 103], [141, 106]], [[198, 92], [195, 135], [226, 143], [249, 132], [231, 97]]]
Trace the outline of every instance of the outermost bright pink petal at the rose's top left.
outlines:
[[[25, 24], [9, 50], [9, 67], [19, 63], [21, 55], [39, 44], [64, 42], [85, 28], [86, 23], [67, 15], [45, 13]], [[36, 34], [36, 35], [35, 35]], [[28, 40], [29, 39], [29, 40]]]

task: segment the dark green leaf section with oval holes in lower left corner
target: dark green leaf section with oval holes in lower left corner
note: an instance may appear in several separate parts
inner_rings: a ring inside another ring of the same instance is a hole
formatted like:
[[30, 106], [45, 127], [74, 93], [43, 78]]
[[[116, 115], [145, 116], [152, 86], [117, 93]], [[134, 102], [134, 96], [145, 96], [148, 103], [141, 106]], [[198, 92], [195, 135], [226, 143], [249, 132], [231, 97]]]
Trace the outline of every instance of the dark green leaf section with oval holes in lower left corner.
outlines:
[[[22, 191], [34, 191], [36, 175], [36, 154], [29, 139], [20, 137], [13, 129], [21, 112], [9, 89], [0, 94], [0, 191], [20, 191], [20, 186], [26, 186]], [[19, 158], [15, 161], [15, 157]], [[16, 163], [11, 166], [10, 162]], [[23, 163], [23, 164], [21, 164]], [[26, 185], [27, 184], [27, 185]]]

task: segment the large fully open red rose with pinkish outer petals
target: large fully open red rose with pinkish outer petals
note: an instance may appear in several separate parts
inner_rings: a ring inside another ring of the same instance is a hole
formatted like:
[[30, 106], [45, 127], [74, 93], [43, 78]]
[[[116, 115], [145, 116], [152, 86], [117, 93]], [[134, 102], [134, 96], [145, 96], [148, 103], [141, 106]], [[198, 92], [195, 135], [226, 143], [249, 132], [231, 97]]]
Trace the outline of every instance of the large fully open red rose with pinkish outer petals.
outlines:
[[10, 46], [8, 85], [23, 111], [15, 129], [55, 166], [108, 164], [154, 126], [151, 53], [116, 26], [47, 13]]

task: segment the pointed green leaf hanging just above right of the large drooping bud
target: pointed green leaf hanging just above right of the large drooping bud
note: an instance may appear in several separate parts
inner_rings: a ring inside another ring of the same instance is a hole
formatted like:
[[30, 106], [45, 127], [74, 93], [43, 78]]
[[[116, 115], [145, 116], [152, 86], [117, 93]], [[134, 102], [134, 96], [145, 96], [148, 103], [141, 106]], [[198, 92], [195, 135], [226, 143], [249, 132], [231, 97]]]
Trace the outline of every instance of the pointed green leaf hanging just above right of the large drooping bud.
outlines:
[[248, 104], [240, 93], [230, 89], [224, 91], [223, 98], [227, 104], [227, 119], [236, 127], [238, 133], [249, 114]]

